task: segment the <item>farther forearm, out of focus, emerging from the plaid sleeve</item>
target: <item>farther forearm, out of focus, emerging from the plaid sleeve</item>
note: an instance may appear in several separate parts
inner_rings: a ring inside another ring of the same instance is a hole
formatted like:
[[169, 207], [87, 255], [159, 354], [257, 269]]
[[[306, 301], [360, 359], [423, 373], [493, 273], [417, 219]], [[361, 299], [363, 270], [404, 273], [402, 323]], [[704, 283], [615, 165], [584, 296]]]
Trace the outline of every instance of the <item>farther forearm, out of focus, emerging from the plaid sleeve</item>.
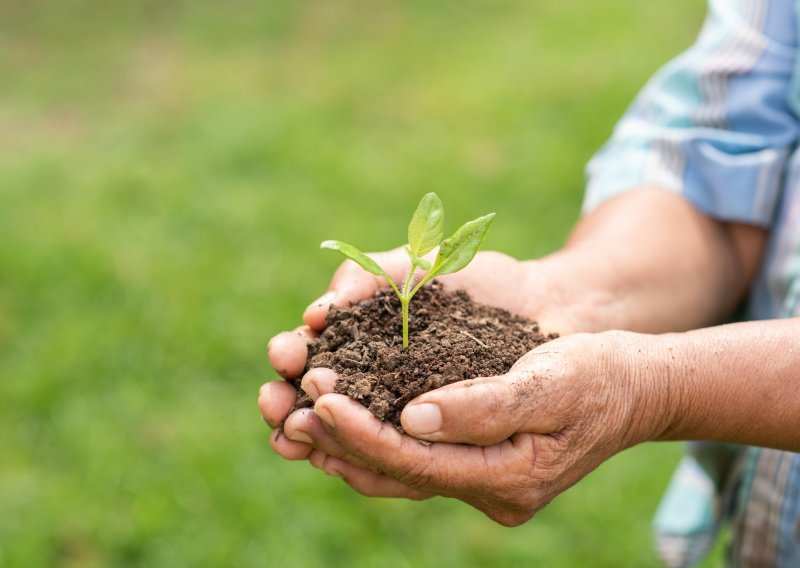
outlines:
[[764, 243], [657, 189], [629, 192], [581, 219], [537, 261], [574, 331], [679, 331], [719, 322], [741, 301]]

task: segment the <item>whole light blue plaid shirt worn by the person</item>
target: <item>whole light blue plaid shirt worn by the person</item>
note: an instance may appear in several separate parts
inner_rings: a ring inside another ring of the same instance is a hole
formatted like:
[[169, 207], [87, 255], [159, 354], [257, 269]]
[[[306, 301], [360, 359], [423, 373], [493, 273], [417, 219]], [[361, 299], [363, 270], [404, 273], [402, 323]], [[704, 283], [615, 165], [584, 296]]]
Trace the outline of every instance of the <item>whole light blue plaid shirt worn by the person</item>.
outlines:
[[[584, 212], [653, 186], [769, 228], [748, 319], [800, 316], [799, 26], [800, 0], [710, 0], [696, 43], [654, 75], [587, 167]], [[746, 448], [736, 471], [731, 563], [800, 566], [800, 454]]]

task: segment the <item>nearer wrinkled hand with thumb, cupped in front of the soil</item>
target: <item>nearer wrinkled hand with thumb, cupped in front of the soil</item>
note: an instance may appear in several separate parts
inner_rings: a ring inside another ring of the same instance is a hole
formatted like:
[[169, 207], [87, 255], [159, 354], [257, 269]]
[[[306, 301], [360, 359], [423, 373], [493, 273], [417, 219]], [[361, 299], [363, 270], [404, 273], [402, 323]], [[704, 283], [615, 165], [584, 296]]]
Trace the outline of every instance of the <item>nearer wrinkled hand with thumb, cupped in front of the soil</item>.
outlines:
[[652, 349], [646, 335], [571, 335], [531, 351], [506, 375], [426, 393], [406, 407], [402, 423], [431, 445], [328, 394], [335, 375], [315, 370], [303, 379], [314, 411], [295, 413], [286, 429], [310, 441], [312, 464], [365, 495], [454, 497], [518, 525], [607, 458], [668, 426], [666, 387], [637, 361]]

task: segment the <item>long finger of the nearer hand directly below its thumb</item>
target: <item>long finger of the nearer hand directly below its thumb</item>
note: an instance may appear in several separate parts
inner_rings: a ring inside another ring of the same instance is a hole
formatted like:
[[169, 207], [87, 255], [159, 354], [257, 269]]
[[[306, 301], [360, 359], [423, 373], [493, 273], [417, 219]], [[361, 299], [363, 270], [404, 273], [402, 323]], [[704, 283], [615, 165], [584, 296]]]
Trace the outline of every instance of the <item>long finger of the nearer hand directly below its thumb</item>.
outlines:
[[[321, 396], [314, 412], [342, 447], [401, 483], [425, 492], [454, 496], [460, 490], [527, 480], [532, 464], [529, 439], [486, 448], [463, 444], [421, 444], [382, 423], [357, 402], [338, 394]], [[528, 444], [522, 447], [521, 444]]]

